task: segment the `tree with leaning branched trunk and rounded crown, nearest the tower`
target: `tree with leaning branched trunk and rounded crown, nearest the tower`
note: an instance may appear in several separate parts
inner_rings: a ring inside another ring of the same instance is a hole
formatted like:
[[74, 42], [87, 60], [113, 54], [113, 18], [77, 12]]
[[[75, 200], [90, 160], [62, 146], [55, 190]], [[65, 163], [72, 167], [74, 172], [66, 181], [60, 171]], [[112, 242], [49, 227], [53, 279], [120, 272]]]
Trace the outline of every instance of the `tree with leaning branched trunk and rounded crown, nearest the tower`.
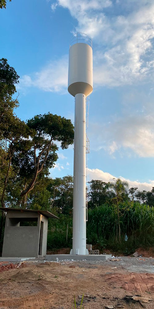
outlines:
[[34, 116], [27, 121], [27, 125], [35, 132], [31, 139], [31, 147], [21, 153], [24, 141], [19, 143], [13, 160], [18, 175], [25, 175], [25, 187], [21, 191], [18, 205], [22, 201], [24, 205], [25, 198], [34, 188], [39, 173], [43, 170], [48, 173], [49, 168], [54, 166], [58, 159], [58, 146], [55, 142], [61, 142], [61, 148], [67, 149], [74, 139], [71, 120], [51, 113]]

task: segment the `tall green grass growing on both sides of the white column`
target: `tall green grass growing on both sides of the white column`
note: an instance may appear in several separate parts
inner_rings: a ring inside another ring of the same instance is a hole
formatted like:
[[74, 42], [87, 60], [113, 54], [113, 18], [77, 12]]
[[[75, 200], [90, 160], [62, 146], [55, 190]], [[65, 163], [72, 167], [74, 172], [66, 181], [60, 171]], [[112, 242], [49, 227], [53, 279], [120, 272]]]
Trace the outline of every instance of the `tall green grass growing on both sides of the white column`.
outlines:
[[[68, 238], [67, 234], [68, 224]], [[128, 240], [125, 241], [125, 235]], [[138, 247], [154, 247], [154, 207], [138, 202], [103, 204], [88, 210], [87, 243], [130, 254]], [[47, 249], [71, 248], [72, 218], [59, 215], [48, 226]]]

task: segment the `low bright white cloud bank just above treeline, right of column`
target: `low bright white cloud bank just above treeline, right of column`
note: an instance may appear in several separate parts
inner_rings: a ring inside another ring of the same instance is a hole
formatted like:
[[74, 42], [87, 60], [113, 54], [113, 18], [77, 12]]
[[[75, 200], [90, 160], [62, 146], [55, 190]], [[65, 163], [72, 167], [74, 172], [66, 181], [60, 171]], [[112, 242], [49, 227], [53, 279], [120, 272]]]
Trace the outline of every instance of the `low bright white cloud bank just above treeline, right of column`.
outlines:
[[94, 180], [103, 180], [105, 182], [113, 181], [113, 178], [117, 179], [120, 178], [121, 180], [128, 181], [129, 187], [137, 187], [139, 190], [147, 190], [151, 191], [152, 187], [154, 187], [154, 180], [149, 180], [149, 182], [139, 182], [137, 180], [129, 180], [124, 177], [115, 177], [111, 175], [110, 173], [103, 172], [102, 170], [96, 168], [96, 169], [90, 169], [88, 168], [88, 181]]

